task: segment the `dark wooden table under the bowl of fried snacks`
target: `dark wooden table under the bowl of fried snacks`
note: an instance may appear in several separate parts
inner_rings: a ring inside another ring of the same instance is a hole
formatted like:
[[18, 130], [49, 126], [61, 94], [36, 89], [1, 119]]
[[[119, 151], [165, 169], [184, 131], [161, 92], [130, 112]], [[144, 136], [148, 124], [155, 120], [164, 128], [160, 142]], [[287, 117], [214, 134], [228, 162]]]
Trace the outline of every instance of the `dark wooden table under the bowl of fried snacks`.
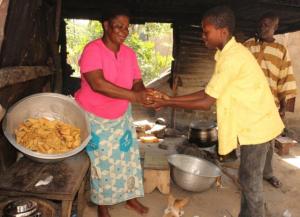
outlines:
[[[33, 196], [61, 201], [61, 217], [70, 217], [78, 193], [78, 217], [82, 217], [84, 186], [90, 161], [85, 152], [57, 163], [37, 163], [22, 158], [0, 177], [0, 194], [9, 197]], [[48, 185], [35, 187], [39, 180], [53, 176]]]

